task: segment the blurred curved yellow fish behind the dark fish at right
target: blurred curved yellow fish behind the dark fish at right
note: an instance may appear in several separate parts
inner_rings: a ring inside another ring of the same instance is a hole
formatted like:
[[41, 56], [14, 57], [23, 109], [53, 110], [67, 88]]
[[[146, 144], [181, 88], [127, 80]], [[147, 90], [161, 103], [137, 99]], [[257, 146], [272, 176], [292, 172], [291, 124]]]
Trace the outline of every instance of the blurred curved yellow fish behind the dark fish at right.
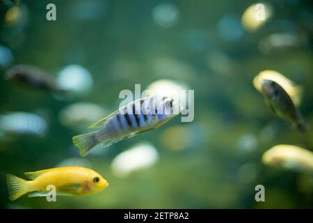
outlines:
[[275, 70], [263, 70], [259, 72], [259, 74], [253, 79], [253, 85], [255, 89], [262, 93], [262, 81], [264, 79], [271, 80], [273, 82], [278, 83], [284, 91], [288, 93], [291, 100], [294, 102], [294, 105], [298, 107], [300, 105], [302, 99], [303, 89], [300, 85], [296, 85], [287, 77], [284, 77], [280, 72]]

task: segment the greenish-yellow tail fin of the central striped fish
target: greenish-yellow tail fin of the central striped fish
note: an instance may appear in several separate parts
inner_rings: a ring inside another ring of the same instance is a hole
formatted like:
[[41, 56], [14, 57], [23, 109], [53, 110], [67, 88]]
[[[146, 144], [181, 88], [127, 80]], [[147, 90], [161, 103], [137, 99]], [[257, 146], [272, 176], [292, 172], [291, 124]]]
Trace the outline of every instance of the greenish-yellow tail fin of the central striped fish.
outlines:
[[72, 141], [73, 144], [79, 148], [79, 154], [81, 156], [87, 155], [87, 153], [100, 142], [97, 139], [97, 132], [76, 135], [72, 137]]

